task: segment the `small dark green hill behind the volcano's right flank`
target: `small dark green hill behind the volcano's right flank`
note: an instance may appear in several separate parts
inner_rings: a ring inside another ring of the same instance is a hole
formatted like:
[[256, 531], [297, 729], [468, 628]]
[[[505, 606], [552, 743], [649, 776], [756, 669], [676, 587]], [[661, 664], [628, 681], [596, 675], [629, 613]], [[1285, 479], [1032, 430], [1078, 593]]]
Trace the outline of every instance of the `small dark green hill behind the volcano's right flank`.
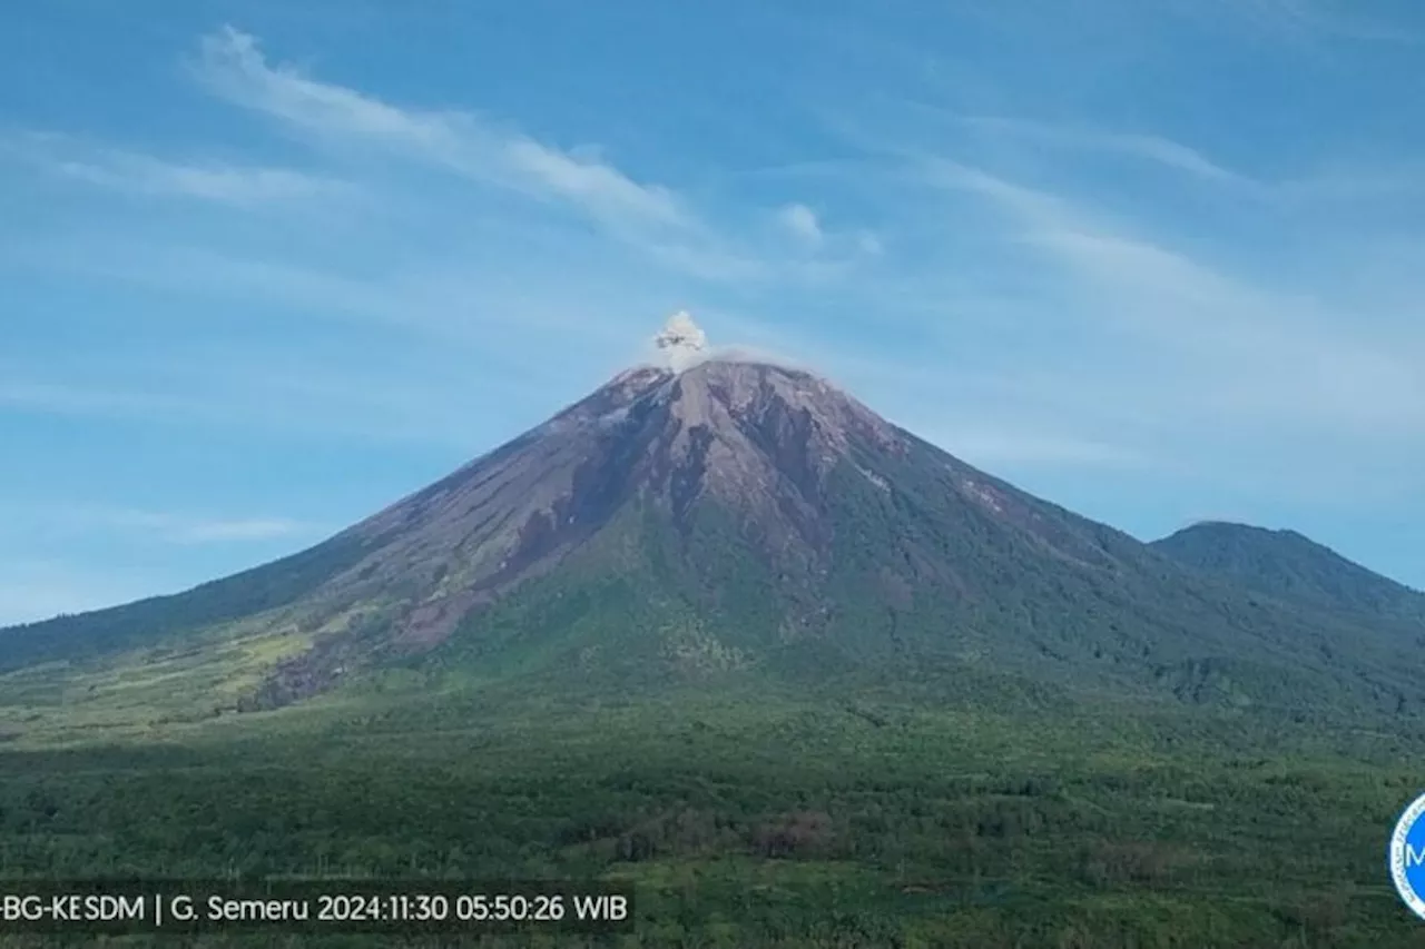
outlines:
[[1294, 530], [1206, 522], [1156, 540], [1151, 547], [1257, 593], [1421, 624], [1425, 634], [1425, 593], [1372, 573]]

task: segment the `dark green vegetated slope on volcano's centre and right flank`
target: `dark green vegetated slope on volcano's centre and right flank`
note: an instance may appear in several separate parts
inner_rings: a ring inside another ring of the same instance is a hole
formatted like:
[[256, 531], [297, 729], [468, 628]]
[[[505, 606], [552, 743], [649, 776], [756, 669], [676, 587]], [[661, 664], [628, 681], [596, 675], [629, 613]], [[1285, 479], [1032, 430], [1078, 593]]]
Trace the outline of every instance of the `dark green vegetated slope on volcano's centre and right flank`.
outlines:
[[409, 680], [385, 678], [587, 695], [708, 677], [929, 695], [999, 683], [1396, 727], [1425, 710], [1419, 660], [1369, 616], [1253, 600], [1050, 506], [1033, 531], [1006, 526], [925, 459], [895, 474], [885, 492], [835, 472], [822, 564], [777, 560], [715, 503], [681, 522], [630, 504], [557, 571], [406, 658]]

